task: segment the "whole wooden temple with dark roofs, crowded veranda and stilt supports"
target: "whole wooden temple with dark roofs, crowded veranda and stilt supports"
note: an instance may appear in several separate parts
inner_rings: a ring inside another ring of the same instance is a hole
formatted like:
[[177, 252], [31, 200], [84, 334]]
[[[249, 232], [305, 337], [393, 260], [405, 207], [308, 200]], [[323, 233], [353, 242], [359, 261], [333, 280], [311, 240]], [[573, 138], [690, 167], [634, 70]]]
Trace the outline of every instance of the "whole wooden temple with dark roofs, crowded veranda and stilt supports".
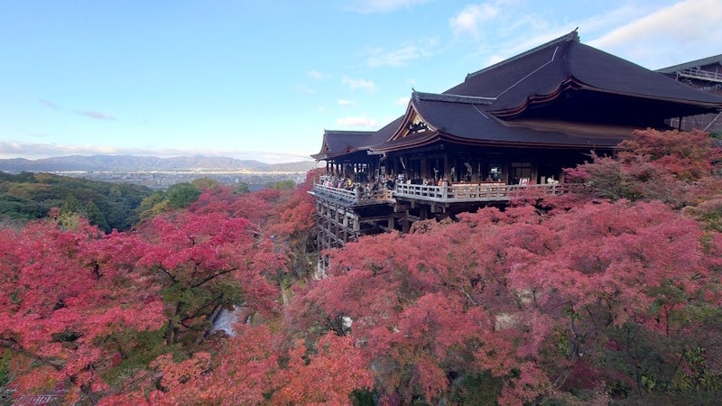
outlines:
[[[579, 42], [576, 31], [467, 75], [412, 91], [378, 131], [325, 131], [316, 198], [319, 251], [416, 219], [564, 189], [564, 168], [614, 153], [635, 129], [718, 115], [722, 97]], [[322, 264], [321, 264], [322, 265]]]

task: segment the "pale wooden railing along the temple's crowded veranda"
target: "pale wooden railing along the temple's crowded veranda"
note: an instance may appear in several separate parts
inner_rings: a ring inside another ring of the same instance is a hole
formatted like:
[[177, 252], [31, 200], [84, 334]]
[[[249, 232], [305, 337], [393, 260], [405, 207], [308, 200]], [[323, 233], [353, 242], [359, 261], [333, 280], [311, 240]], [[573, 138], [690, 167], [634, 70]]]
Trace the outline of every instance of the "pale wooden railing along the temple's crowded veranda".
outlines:
[[459, 183], [452, 186], [396, 184], [394, 189], [377, 190], [356, 187], [341, 189], [317, 183], [313, 194], [324, 198], [337, 199], [349, 205], [378, 204], [393, 201], [394, 198], [414, 198], [440, 203], [509, 201], [522, 193], [558, 195], [564, 192], [564, 184], [506, 185], [504, 183]]

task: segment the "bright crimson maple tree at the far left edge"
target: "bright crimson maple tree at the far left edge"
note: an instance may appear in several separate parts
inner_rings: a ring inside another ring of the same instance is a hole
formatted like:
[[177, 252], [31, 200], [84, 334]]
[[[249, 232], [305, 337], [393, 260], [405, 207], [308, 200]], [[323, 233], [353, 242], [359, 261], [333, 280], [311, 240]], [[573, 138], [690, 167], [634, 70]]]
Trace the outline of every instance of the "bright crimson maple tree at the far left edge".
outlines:
[[120, 335], [162, 327], [161, 296], [126, 261], [133, 247], [116, 233], [40, 221], [0, 234], [0, 339], [14, 355], [12, 386], [70, 383], [69, 399], [93, 399], [113, 355], [134, 346]]

